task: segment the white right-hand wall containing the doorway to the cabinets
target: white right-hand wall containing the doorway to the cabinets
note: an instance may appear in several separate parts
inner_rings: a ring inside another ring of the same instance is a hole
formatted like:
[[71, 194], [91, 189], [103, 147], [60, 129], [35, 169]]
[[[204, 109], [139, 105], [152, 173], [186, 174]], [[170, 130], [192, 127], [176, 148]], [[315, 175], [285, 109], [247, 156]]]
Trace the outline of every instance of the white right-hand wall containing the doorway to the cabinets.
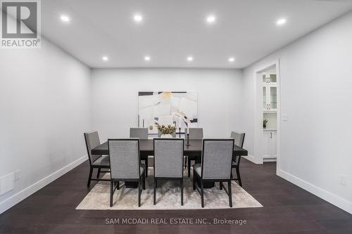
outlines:
[[[289, 27], [289, 25], [287, 26]], [[246, 143], [260, 161], [256, 72], [279, 59], [281, 156], [277, 174], [352, 213], [352, 13], [244, 70]], [[347, 176], [347, 186], [339, 176]]]

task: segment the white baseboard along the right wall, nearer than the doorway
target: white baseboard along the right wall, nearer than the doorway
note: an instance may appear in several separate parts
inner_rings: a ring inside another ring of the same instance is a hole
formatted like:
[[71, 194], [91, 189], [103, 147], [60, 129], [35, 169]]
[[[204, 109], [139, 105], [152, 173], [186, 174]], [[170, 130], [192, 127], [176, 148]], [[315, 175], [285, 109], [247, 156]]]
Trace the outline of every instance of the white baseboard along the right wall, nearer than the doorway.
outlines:
[[282, 170], [277, 171], [277, 176], [280, 176], [285, 180], [291, 183], [294, 183], [296, 186], [301, 187], [304, 190], [307, 190], [309, 193], [313, 193], [314, 195], [322, 198], [323, 200], [331, 204], [334, 204], [335, 206], [341, 209], [344, 209], [344, 211], [352, 214], [352, 202], [349, 202], [344, 198], [334, 195], [333, 193], [330, 193], [327, 190], [319, 188], [318, 186], [308, 183], [307, 181], [303, 181], [301, 178], [291, 175], [286, 171], [282, 171]]

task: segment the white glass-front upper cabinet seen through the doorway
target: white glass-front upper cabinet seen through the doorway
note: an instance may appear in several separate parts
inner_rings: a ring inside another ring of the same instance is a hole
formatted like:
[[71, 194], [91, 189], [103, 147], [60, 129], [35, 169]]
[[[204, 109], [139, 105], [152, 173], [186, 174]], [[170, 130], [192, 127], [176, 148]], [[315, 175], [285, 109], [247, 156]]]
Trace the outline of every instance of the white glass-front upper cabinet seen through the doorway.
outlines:
[[277, 111], [277, 77], [275, 73], [263, 73], [263, 111]]

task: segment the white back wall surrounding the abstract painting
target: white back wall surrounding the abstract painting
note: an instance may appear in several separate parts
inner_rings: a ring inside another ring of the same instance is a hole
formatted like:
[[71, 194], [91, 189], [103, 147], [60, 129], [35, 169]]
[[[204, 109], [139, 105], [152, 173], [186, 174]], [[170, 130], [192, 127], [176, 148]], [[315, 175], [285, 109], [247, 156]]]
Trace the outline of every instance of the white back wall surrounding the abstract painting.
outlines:
[[197, 91], [199, 127], [230, 136], [241, 125], [241, 70], [93, 69], [92, 126], [101, 140], [128, 137], [138, 124], [138, 91]]

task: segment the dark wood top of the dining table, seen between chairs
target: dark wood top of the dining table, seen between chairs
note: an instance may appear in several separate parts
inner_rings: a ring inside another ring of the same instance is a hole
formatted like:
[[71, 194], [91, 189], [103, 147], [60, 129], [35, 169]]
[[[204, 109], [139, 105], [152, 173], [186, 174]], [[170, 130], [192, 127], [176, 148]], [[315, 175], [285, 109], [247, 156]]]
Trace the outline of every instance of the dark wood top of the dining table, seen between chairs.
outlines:
[[[191, 140], [189, 141], [191, 145], [187, 146], [186, 141], [184, 141], [184, 155], [189, 156], [199, 156], [202, 150], [202, 140]], [[153, 155], [154, 145], [153, 139], [140, 140], [139, 150], [141, 156]], [[104, 142], [96, 148], [92, 149], [92, 155], [108, 155], [108, 142]], [[247, 150], [234, 145], [234, 156], [246, 156], [248, 155]]]

